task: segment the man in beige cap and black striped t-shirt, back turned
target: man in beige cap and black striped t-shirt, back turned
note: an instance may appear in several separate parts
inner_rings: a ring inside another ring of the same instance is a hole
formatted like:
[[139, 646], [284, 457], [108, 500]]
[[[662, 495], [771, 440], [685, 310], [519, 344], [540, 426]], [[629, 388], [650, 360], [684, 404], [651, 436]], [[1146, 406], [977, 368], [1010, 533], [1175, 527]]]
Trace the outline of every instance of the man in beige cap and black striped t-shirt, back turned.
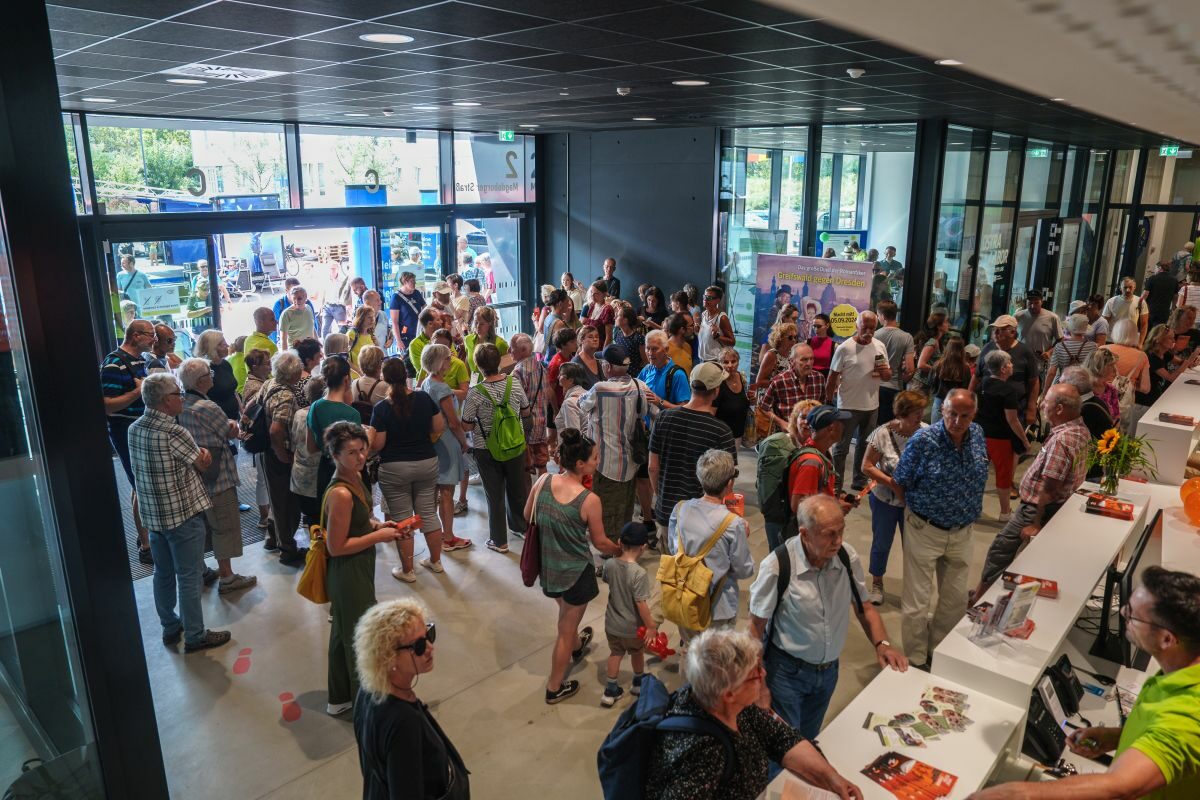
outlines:
[[725, 371], [721, 367], [710, 361], [696, 365], [691, 371], [691, 398], [662, 411], [650, 432], [650, 483], [658, 498], [654, 527], [664, 553], [671, 552], [665, 549], [666, 535], [676, 504], [704, 494], [696, 475], [700, 457], [709, 450], [726, 450], [737, 462], [738, 451], [730, 426], [713, 414], [713, 401], [722, 383]]

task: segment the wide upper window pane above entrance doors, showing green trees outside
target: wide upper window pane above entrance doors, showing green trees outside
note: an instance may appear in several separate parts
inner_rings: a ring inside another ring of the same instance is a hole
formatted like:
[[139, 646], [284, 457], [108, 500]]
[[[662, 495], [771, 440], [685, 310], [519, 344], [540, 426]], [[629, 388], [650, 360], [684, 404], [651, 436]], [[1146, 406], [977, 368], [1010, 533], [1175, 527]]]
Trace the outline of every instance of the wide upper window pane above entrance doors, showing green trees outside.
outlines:
[[283, 126], [89, 116], [100, 213], [288, 207]]

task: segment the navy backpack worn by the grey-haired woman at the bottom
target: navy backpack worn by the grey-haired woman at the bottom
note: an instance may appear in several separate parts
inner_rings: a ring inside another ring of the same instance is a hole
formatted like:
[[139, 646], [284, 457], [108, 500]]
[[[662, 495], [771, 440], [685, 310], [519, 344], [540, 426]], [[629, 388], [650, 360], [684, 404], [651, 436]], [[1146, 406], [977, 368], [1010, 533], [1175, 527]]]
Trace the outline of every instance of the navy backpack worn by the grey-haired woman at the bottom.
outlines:
[[605, 800], [640, 800], [646, 796], [650, 758], [659, 730], [695, 733], [721, 742], [725, 766], [720, 788], [728, 784], [736, 762], [733, 739], [728, 730], [719, 722], [704, 717], [686, 714], [668, 716], [667, 710], [676, 697], [677, 693], [668, 693], [662, 681], [650, 673], [642, 676], [642, 691], [637, 702], [620, 712], [596, 753]]

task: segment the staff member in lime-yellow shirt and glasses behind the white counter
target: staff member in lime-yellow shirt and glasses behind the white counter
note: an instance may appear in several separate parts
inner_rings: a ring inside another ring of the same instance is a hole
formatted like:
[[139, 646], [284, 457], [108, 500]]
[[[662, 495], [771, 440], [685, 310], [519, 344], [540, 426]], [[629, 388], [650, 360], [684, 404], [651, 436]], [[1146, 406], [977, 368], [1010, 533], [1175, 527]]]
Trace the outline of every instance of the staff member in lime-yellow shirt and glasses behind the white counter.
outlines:
[[1146, 681], [1123, 728], [1081, 728], [1067, 744], [1096, 758], [1112, 751], [1098, 775], [1051, 783], [1004, 783], [970, 800], [1102, 800], [1200, 798], [1200, 578], [1147, 567], [1121, 608], [1126, 636], [1163, 668]]

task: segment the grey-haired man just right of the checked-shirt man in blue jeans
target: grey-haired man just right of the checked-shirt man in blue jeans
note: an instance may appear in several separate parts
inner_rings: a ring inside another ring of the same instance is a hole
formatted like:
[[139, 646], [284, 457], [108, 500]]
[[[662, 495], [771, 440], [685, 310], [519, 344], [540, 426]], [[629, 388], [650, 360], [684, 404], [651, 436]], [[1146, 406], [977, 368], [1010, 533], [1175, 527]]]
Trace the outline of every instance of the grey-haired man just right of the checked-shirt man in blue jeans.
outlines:
[[184, 386], [184, 410], [179, 423], [192, 434], [196, 444], [212, 455], [212, 463], [200, 477], [212, 507], [204, 512], [212, 531], [212, 555], [217, 559], [222, 595], [248, 589], [258, 583], [254, 576], [238, 575], [230, 560], [241, 555], [241, 521], [238, 518], [238, 464], [229, 440], [238, 438], [238, 423], [224, 415], [209, 398], [212, 371], [204, 359], [187, 359], [179, 365], [179, 383]]

